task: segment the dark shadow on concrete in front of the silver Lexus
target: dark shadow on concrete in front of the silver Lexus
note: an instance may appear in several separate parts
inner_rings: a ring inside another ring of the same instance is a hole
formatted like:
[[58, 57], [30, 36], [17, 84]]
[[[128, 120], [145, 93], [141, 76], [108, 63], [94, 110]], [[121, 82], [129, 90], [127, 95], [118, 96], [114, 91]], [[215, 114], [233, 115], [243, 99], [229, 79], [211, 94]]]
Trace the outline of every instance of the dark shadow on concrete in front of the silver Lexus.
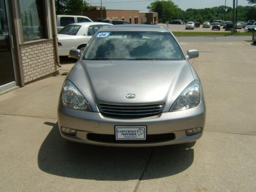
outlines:
[[101, 181], [155, 179], [183, 172], [194, 160], [189, 145], [104, 147], [66, 141], [53, 126], [38, 152], [38, 167], [49, 174]]

